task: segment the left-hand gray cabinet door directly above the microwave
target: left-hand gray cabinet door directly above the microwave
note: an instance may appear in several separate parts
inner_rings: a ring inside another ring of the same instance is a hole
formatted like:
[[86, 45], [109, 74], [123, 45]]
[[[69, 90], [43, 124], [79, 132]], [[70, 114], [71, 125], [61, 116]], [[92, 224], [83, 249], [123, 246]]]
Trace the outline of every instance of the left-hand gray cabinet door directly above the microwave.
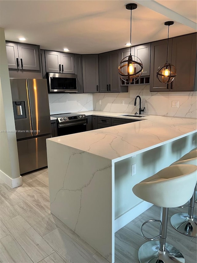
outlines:
[[46, 72], [60, 73], [60, 52], [45, 50]]

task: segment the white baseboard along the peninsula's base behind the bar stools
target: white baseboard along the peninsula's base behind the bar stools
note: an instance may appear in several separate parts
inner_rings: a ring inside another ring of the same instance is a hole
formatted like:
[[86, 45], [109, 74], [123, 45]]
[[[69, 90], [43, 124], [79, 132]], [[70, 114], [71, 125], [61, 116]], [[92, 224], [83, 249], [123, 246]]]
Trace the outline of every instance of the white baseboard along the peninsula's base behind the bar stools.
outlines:
[[124, 227], [126, 224], [131, 222], [131, 220], [135, 219], [137, 216], [141, 215], [144, 211], [146, 211], [151, 206], [153, 206], [152, 203], [142, 201], [141, 203], [136, 205], [134, 208], [131, 208], [128, 212], [126, 212], [122, 216], [119, 216], [119, 218], [115, 220], [115, 232], [117, 232], [120, 228]]

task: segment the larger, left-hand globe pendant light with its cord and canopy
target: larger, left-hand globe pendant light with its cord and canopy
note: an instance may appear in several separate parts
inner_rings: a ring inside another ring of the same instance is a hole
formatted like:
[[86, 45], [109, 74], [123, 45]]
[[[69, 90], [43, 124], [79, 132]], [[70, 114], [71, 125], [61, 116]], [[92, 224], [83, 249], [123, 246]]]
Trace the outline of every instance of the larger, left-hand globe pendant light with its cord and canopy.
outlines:
[[[131, 10], [131, 13], [132, 10], [136, 8], [137, 8], [136, 4], [126, 5], [126, 9]], [[128, 83], [131, 83], [133, 79], [138, 80], [143, 72], [142, 61], [138, 57], [131, 55], [131, 30], [130, 30], [130, 55], [123, 58], [123, 60], [121, 60], [118, 67], [118, 71], [120, 78]]]

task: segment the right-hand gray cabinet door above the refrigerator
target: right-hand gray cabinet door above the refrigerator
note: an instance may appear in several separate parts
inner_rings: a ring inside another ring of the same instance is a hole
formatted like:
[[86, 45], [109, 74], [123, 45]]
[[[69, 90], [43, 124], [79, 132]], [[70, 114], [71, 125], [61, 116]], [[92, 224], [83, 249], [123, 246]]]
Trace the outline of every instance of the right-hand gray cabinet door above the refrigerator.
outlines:
[[18, 43], [20, 68], [40, 70], [38, 46]]

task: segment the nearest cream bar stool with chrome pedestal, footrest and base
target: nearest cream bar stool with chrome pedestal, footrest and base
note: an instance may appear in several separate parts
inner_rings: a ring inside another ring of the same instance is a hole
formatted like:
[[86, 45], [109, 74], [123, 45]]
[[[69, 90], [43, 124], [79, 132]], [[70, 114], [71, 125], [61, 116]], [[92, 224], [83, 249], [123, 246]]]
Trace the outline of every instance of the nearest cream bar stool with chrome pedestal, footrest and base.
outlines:
[[[178, 207], [191, 198], [196, 184], [196, 170], [195, 165], [189, 164], [168, 166], [133, 187], [136, 196], [161, 207], [161, 220], [148, 220], [141, 226], [143, 237], [151, 240], [139, 248], [138, 258], [141, 263], [185, 263], [182, 253], [166, 243], [168, 208]], [[142, 228], [151, 221], [160, 221], [160, 233], [147, 238]], [[158, 237], [159, 241], [153, 241]]]

